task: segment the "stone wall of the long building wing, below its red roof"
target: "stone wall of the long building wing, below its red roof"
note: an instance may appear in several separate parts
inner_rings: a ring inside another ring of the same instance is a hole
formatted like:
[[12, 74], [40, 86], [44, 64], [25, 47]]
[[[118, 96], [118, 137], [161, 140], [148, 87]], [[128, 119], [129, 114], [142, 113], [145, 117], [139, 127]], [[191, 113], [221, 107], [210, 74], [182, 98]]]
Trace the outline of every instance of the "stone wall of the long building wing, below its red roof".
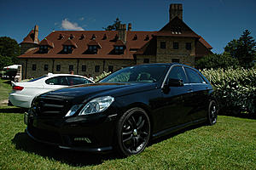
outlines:
[[[117, 71], [125, 66], [135, 65], [133, 59], [20, 59], [19, 64], [22, 65], [22, 79], [32, 77], [41, 77], [49, 72], [54, 74], [68, 74], [69, 65], [73, 65], [74, 74], [82, 76], [96, 77], [103, 71], [108, 72], [108, 66], [113, 66], [113, 71]], [[33, 71], [32, 65], [36, 65]], [[44, 65], [48, 65], [48, 71], [44, 71]], [[61, 70], [56, 71], [57, 65], [61, 65]], [[85, 65], [86, 71], [82, 71]], [[99, 65], [99, 71], [95, 71], [96, 65]]]

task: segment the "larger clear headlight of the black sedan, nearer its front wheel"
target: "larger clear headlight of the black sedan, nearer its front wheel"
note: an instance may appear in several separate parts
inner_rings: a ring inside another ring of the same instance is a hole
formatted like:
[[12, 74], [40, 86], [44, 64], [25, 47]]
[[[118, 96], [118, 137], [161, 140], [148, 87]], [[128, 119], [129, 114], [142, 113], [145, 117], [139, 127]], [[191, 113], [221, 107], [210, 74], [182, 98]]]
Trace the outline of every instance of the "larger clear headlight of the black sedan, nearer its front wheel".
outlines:
[[84, 108], [79, 112], [79, 116], [90, 115], [93, 113], [99, 113], [108, 109], [114, 101], [114, 98], [111, 96], [99, 97], [96, 99], [90, 100], [89, 103], [84, 105]]

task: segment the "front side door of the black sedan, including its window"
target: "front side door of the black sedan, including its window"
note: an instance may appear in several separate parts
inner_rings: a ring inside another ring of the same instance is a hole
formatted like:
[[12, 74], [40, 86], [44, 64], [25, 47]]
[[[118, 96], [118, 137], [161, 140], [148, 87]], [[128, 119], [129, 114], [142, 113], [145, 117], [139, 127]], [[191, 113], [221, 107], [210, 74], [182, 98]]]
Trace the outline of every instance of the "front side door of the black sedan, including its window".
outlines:
[[[162, 107], [159, 111], [162, 122], [162, 130], [170, 127], [175, 127], [183, 123], [189, 122], [187, 117], [191, 107], [185, 105], [191, 99], [192, 88], [188, 83], [188, 79], [183, 71], [182, 66], [173, 66], [167, 80], [178, 79], [183, 81], [183, 86], [174, 87], [167, 86], [163, 88]], [[167, 81], [166, 81], [167, 82]]]

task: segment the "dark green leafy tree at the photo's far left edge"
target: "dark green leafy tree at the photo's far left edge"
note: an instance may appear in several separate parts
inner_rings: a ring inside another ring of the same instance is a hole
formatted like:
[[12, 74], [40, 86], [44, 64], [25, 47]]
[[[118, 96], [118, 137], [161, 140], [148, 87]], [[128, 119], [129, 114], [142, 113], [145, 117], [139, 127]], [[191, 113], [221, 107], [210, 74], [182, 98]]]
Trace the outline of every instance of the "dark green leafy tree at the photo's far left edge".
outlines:
[[15, 39], [10, 37], [0, 37], [0, 70], [4, 66], [12, 65], [20, 55], [20, 46]]

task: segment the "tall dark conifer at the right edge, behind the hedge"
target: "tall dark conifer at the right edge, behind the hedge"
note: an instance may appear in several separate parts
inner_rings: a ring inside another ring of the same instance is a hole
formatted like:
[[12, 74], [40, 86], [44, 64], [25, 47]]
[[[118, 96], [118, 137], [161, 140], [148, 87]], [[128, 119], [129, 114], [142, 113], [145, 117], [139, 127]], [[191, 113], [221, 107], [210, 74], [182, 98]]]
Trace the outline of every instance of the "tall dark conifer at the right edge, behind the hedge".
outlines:
[[239, 65], [245, 68], [253, 66], [253, 59], [256, 55], [256, 42], [250, 34], [248, 30], [243, 31], [238, 40], [232, 40], [224, 48], [225, 52], [238, 59]]

